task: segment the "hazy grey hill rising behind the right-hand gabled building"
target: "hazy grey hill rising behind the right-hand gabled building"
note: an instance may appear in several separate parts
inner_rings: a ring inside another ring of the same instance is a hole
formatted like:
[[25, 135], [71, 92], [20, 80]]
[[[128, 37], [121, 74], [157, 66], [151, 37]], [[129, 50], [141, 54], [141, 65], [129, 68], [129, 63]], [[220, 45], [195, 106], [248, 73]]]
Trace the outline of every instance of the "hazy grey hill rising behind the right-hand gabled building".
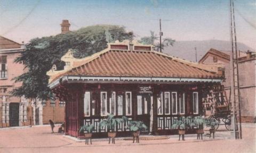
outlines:
[[[195, 47], [197, 50], [197, 61], [211, 48], [220, 51], [231, 51], [231, 43], [229, 41], [208, 40], [208, 41], [177, 41], [174, 46], [166, 47], [164, 53], [179, 57], [182, 59], [196, 61]], [[237, 43], [238, 50], [246, 52], [247, 50], [255, 51], [251, 47], [243, 43]]]

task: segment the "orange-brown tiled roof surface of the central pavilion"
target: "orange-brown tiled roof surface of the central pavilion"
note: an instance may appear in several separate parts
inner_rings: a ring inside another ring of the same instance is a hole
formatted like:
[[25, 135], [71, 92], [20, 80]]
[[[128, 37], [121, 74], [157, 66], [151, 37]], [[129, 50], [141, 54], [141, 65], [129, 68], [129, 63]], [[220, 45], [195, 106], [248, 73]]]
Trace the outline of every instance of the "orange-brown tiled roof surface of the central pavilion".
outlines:
[[[155, 51], [109, 50], [60, 76], [219, 78], [217, 73]], [[59, 78], [58, 76], [57, 78]], [[56, 79], [57, 79], [56, 78]]]

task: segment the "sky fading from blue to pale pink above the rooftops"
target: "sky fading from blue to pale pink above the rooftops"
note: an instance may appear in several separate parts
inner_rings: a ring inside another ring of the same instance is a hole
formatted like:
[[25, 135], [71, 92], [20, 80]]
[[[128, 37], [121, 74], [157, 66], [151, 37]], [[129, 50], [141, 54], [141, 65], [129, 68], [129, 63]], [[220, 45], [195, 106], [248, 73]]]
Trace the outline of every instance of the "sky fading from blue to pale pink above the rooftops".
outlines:
[[[234, 0], [237, 41], [256, 50], [256, 0]], [[176, 41], [230, 41], [229, 0], [0, 0], [0, 35], [21, 43], [57, 35], [63, 19], [70, 30], [108, 24], [125, 26], [136, 38], [159, 32]]]

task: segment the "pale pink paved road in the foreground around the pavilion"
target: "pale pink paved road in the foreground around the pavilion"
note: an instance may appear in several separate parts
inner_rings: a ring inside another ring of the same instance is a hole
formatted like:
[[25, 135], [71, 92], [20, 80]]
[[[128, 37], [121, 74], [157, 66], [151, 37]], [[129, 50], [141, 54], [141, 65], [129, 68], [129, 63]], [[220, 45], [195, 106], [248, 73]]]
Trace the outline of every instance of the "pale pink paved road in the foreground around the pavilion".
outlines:
[[[0, 130], [0, 152], [255, 152], [255, 125], [243, 126], [243, 139], [230, 140], [217, 138], [204, 141], [187, 136], [186, 141], [178, 141], [173, 136], [166, 140], [149, 140], [132, 143], [132, 141], [116, 140], [116, 144], [107, 141], [93, 141], [92, 145], [76, 142], [63, 137], [62, 134], [51, 133], [50, 126], [22, 129]], [[207, 132], [206, 132], [207, 133]], [[218, 132], [219, 136], [229, 132]]]

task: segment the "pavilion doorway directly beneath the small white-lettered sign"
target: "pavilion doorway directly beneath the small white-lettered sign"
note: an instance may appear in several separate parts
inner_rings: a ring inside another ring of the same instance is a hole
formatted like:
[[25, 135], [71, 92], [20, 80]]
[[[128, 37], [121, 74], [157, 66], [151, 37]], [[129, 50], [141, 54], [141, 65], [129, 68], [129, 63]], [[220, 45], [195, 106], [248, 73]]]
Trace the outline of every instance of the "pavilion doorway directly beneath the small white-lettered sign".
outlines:
[[141, 120], [148, 127], [150, 127], [150, 110], [153, 103], [153, 96], [151, 93], [140, 93], [137, 95], [137, 120]]

